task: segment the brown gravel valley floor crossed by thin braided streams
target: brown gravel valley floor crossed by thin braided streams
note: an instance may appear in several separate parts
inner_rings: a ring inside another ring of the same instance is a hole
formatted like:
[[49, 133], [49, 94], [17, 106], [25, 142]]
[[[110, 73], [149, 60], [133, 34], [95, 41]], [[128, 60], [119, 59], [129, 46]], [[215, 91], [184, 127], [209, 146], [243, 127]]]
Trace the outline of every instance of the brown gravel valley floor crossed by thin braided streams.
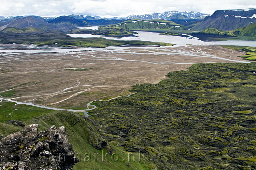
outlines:
[[[10, 45], [17, 46], [19, 45]], [[6, 46], [6, 47], [10, 47]], [[156, 84], [194, 63], [246, 63], [243, 52], [216, 45], [110, 47], [1, 52], [0, 95], [18, 102], [86, 109], [94, 100], [129, 95], [132, 85]], [[46, 48], [46, 49], [45, 49]], [[62, 48], [63, 49], [63, 48]]]

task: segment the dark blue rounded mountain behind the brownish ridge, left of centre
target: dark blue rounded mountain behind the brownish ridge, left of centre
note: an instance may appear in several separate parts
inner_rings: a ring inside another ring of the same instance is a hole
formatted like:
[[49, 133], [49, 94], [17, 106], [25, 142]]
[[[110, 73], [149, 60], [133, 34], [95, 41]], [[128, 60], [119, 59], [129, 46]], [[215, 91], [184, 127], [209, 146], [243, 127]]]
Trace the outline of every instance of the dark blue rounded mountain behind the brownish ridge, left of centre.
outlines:
[[90, 24], [88, 24], [86, 21], [77, 20], [77, 19], [75, 19], [73, 17], [69, 17], [69, 16], [57, 17], [57, 18], [49, 21], [49, 23], [53, 23], [53, 24], [70, 24], [70, 25], [73, 25], [75, 27], [87, 27], [87, 26], [90, 26]]

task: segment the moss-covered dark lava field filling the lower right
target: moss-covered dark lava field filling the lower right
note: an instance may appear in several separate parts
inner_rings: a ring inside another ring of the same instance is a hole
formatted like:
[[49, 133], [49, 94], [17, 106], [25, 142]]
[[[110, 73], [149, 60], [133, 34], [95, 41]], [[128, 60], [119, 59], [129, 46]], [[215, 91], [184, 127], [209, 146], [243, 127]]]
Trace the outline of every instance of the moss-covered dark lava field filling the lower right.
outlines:
[[95, 101], [106, 139], [155, 169], [255, 169], [256, 63], [194, 64], [137, 93]]

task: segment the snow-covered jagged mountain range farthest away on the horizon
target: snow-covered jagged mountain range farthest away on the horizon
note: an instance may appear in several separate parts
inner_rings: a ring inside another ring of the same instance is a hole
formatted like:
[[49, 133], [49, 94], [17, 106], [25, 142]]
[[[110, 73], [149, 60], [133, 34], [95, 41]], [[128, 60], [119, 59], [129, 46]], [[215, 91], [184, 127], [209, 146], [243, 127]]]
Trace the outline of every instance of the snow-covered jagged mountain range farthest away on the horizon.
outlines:
[[144, 15], [129, 15], [128, 17], [125, 17], [124, 19], [167, 19], [174, 15], [184, 15], [190, 19], [194, 19], [196, 17], [200, 16], [206, 16], [207, 14], [203, 14], [200, 12], [180, 12], [180, 11], [166, 11], [164, 13], [153, 13], [153, 14], [144, 14]]

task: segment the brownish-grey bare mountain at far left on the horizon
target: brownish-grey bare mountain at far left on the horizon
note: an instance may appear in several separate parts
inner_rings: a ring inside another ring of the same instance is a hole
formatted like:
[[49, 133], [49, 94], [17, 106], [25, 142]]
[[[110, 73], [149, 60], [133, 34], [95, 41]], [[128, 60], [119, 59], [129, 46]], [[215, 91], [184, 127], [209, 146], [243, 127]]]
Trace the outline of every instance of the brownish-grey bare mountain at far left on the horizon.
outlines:
[[1, 26], [0, 30], [3, 30], [4, 28], [7, 28], [7, 27], [37, 28], [43, 31], [59, 30], [62, 32], [68, 32], [71, 29], [76, 29], [76, 27], [72, 25], [68, 25], [68, 24], [55, 25], [31, 16], [5, 22], [5, 25]]

